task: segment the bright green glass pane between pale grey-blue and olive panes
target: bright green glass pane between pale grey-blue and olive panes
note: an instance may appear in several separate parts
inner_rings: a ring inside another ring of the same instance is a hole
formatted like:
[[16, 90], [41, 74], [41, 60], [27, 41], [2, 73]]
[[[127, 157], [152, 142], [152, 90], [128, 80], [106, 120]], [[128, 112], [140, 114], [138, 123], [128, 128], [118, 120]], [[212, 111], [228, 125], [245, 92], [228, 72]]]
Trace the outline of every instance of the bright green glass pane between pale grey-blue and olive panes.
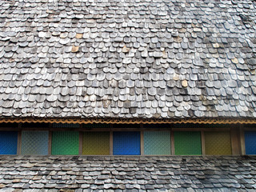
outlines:
[[51, 154], [79, 154], [79, 132], [54, 131]]

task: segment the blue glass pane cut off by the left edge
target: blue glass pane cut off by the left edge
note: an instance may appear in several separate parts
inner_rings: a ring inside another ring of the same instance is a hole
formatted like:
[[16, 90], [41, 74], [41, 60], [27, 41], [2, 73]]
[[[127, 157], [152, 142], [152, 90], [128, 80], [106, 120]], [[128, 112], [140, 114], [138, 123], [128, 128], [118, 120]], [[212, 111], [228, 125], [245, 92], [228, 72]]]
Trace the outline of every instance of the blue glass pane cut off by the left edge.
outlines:
[[17, 154], [17, 143], [17, 131], [0, 131], [0, 154]]

